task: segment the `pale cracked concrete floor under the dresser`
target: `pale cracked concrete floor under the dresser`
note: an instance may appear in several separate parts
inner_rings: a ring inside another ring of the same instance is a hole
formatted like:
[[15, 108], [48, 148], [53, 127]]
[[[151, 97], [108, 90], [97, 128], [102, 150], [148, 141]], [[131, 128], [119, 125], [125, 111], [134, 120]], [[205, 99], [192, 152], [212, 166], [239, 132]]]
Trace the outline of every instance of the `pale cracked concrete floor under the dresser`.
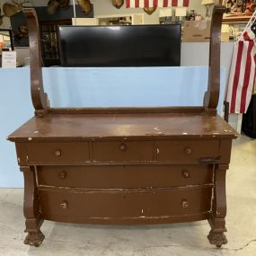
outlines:
[[227, 174], [228, 244], [207, 242], [207, 221], [146, 226], [72, 225], [45, 222], [39, 248], [23, 244], [22, 190], [0, 190], [0, 255], [256, 255], [256, 140], [234, 141]]

